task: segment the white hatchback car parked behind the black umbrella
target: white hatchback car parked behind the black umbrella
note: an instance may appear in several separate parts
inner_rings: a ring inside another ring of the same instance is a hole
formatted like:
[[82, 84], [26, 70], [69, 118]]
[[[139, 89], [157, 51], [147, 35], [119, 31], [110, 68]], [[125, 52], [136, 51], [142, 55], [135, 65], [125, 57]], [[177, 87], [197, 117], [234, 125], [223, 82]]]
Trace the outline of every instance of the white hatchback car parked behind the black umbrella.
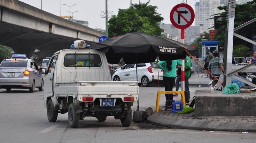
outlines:
[[149, 86], [150, 83], [158, 83], [158, 79], [160, 79], [160, 83], [163, 83], [163, 71], [152, 62], [137, 65], [124, 64], [121, 68], [116, 69], [113, 81], [136, 81], [136, 66], [139, 85]]

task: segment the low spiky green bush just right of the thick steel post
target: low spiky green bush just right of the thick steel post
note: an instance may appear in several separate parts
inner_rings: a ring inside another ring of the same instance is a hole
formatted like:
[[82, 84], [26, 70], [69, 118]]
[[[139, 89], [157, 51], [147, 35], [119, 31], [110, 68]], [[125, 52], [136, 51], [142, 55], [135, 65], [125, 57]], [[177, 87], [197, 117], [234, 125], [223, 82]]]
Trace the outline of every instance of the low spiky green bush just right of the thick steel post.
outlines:
[[249, 57], [250, 56], [250, 48], [244, 45], [236, 45], [233, 47], [233, 55], [234, 57]]

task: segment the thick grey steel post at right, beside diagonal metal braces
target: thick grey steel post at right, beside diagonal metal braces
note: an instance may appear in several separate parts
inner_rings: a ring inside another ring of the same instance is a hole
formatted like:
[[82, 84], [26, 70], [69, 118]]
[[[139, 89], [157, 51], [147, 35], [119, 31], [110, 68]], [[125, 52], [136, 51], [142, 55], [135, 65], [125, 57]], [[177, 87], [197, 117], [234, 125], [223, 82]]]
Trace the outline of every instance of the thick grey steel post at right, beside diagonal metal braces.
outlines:
[[228, 76], [232, 72], [232, 54], [233, 54], [233, 38], [234, 38], [234, 19], [235, 19], [236, 1], [230, 0], [229, 16], [228, 16], [228, 41], [227, 41], [227, 71], [226, 84], [231, 84], [231, 77]]

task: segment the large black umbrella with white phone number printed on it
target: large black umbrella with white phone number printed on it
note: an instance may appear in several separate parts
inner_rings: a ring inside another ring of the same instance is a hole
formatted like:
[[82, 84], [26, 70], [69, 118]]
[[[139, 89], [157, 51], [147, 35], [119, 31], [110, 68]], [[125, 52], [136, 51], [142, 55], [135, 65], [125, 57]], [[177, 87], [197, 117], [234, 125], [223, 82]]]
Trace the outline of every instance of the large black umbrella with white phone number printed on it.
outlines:
[[184, 49], [191, 55], [198, 53], [196, 48], [175, 40], [137, 32], [109, 38], [90, 47], [104, 52], [111, 64], [118, 64], [122, 57], [127, 64], [155, 62], [157, 55], [160, 60], [182, 59], [186, 57]]

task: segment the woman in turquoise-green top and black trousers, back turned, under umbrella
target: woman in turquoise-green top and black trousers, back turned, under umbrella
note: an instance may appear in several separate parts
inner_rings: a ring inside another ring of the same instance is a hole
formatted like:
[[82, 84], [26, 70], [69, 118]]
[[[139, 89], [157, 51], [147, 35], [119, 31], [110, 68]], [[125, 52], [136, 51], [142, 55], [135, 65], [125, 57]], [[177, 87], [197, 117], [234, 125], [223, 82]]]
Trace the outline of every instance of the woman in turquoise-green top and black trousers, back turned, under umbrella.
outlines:
[[[163, 70], [163, 84], [165, 86], [165, 91], [173, 91], [176, 77], [176, 65], [177, 60], [158, 62], [158, 67]], [[173, 100], [173, 94], [165, 94], [165, 99]], [[169, 102], [168, 107], [171, 107], [172, 104], [172, 102]]]

